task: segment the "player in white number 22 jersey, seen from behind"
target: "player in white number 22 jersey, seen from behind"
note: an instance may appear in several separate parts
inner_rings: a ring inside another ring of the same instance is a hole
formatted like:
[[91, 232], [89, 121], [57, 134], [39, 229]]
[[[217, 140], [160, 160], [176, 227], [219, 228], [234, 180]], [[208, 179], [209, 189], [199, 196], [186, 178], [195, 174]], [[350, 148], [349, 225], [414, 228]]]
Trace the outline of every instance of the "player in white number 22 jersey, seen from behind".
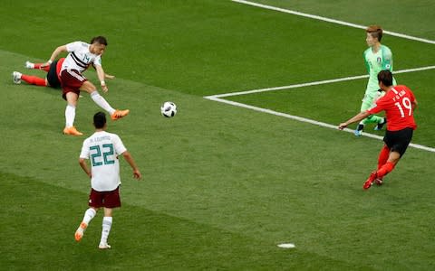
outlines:
[[[95, 217], [100, 208], [104, 208], [102, 219], [102, 238], [99, 248], [111, 248], [107, 243], [111, 231], [112, 210], [121, 207], [120, 199], [120, 163], [118, 156], [122, 155], [133, 170], [133, 176], [138, 180], [141, 177], [140, 171], [134, 163], [131, 154], [122, 144], [118, 135], [106, 132], [106, 115], [98, 112], [93, 116], [95, 133], [86, 138], [82, 145], [82, 152], [79, 164], [82, 170], [91, 178], [91, 193], [89, 196], [90, 208], [85, 211], [82, 223], [75, 231], [74, 238], [80, 241], [84, 230]], [[86, 160], [91, 160], [91, 169], [88, 168]]]

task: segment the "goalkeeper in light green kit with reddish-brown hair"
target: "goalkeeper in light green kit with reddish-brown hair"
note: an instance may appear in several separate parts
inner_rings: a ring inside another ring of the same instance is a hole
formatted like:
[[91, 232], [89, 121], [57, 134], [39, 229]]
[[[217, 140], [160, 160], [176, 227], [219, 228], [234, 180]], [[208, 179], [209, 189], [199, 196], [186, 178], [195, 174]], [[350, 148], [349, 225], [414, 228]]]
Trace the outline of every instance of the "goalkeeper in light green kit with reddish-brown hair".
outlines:
[[[367, 37], [365, 42], [369, 48], [364, 51], [363, 57], [367, 71], [369, 72], [369, 81], [367, 82], [367, 89], [365, 89], [364, 98], [362, 98], [361, 112], [366, 111], [373, 106], [377, 98], [382, 93], [378, 91], [378, 73], [381, 70], [390, 70], [392, 72], [392, 53], [390, 48], [381, 44], [382, 40], [382, 28], [379, 25], [370, 25], [365, 32]], [[396, 85], [395, 79], [393, 79], [393, 85]], [[375, 123], [374, 130], [382, 130], [387, 118], [379, 117], [376, 115], [370, 115], [358, 124], [354, 134], [357, 136], [362, 135], [362, 129], [366, 124]]]

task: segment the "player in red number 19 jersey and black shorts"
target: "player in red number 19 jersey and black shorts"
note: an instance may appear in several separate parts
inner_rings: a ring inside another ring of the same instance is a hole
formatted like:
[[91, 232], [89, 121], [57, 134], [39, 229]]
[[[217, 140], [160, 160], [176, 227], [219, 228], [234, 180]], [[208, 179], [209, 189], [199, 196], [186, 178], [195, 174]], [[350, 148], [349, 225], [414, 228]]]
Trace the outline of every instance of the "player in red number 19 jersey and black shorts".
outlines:
[[343, 130], [346, 126], [385, 111], [388, 118], [387, 129], [383, 137], [384, 145], [378, 157], [378, 169], [370, 174], [362, 188], [369, 189], [372, 182], [382, 184], [383, 176], [390, 173], [405, 154], [406, 148], [411, 143], [413, 131], [417, 127], [414, 120], [414, 109], [417, 100], [411, 89], [404, 85], [392, 86], [392, 74], [390, 70], [382, 70], [378, 74], [379, 87], [385, 91], [385, 95], [376, 101], [376, 106], [357, 114], [338, 128]]

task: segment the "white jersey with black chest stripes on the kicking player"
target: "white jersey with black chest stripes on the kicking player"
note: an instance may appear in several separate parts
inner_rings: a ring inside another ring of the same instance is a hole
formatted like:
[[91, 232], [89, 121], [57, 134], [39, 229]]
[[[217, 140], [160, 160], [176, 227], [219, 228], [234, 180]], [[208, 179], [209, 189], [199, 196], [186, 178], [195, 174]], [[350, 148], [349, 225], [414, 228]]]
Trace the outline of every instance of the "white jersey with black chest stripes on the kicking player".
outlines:
[[66, 50], [70, 53], [63, 61], [62, 69], [79, 70], [82, 73], [93, 63], [94, 65], [102, 66], [102, 57], [99, 54], [94, 54], [89, 51], [91, 44], [86, 42], [71, 42], [66, 44]]

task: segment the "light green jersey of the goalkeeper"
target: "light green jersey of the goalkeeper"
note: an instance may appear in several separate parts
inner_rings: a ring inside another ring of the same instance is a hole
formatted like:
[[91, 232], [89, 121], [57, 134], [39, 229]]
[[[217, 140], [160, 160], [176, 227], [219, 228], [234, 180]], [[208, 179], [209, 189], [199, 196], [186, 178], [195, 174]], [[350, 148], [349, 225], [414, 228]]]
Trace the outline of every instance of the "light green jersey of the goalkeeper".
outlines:
[[[390, 70], [392, 72], [392, 53], [390, 48], [381, 45], [379, 51], [373, 52], [372, 47], [370, 47], [364, 51], [363, 56], [365, 66], [369, 72], [369, 82], [367, 83], [367, 89], [365, 89], [365, 97], [374, 98], [379, 89], [378, 73], [381, 70]], [[395, 79], [393, 79], [393, 85], [396, 85]]]

